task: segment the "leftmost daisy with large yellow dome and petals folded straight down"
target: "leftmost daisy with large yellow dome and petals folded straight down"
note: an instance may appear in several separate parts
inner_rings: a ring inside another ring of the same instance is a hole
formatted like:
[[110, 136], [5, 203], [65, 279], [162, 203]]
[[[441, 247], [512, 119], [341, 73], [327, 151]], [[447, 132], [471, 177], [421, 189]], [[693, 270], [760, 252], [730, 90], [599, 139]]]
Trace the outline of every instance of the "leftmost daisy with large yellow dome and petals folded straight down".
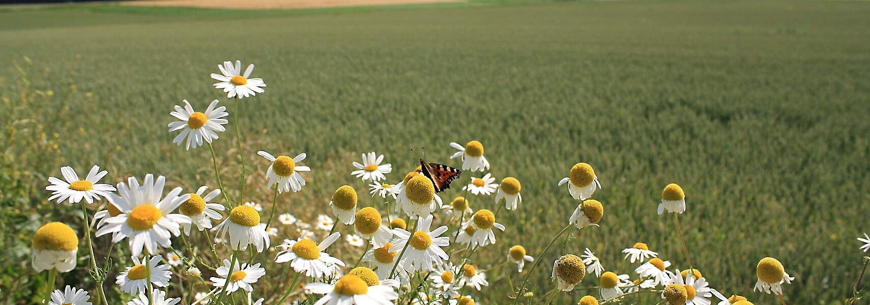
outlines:
[[49, 222], [33, 235], [32, 249], [30, 265], [37, 272], [70, 272], [76, 268], [78, 235], [64, 222]]

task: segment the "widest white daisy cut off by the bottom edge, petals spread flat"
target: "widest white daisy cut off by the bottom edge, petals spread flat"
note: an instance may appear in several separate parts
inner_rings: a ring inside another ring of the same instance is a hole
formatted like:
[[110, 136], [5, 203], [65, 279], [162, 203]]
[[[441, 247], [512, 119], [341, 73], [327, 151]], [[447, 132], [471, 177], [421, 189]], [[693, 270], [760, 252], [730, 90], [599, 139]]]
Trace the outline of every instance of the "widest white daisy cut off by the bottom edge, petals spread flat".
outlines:
[[382, 305], [398, 299], [398, 294], [391, 286], [369, 286], [358, 275], [344, 275], [334, 285], [312, 282], [305, 285], [305, 289], [324, 295], [314, 305]]

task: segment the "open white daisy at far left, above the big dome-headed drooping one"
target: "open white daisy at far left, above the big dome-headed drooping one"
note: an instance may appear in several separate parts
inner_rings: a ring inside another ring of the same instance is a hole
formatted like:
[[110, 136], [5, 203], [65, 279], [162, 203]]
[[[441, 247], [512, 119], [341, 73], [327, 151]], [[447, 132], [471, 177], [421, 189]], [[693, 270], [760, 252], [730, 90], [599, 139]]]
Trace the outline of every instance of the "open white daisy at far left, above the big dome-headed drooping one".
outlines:
[[110, 184], [97, 183], [109, 173], [105, 170], [99, 170], [100, 167], [94, 165], [94, 167], [90, 168], [88, 176], [85, 176], [84, 180], [81, 180], [78, 179], [75, 169], [69, 166], [60, 168], [60, 173], [64, 175], [66, 181], [56, 177], [49, 177], [51, 185], [45, 187], [46, 190], [51, 191], [49, 201], [57, 199], [57, 203], [64, 202], [64, 200], [69, 200], [70, 203], [78, 203], [84, 199], [85, 202], [93, 203], [100, 200], [100, 197], [105, 197], [108, 193], [115, 191], [115, 187]]

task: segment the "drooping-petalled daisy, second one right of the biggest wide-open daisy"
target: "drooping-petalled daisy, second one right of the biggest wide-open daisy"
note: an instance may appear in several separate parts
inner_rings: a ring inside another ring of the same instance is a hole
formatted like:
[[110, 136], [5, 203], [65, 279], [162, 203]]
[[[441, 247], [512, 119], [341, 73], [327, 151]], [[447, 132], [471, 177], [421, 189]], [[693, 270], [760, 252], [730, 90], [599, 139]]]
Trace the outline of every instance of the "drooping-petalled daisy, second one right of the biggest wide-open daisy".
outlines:
[[230, 216], [224, 222], [212, 229], [218, 235], [226, 238], [230, 234], [230, 247], [233, 250], [248, 249], [248, 245], [257, 247], [257, 252], [269, 248], [269, 234], [266, 226], [260, 222], [260, 213], [247, 205], [240, 205], [230, 211]]

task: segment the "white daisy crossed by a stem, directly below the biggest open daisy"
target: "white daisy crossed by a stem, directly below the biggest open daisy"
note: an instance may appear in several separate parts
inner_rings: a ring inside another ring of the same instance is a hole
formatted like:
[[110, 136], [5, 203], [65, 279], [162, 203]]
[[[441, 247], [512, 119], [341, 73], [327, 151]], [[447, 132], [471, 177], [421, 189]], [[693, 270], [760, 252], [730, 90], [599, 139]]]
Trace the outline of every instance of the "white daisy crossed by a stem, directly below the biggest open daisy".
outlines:
[[[133, 267], [127, 267], [115, 278], [115, 283], [120, 286], [121, 291], [128, 294], [137, 294], [137, 292], [148, 291], [148, 267], [145, 260], [149, 260], [148, 255], [145, 255], [143, 260], [139, 260], [137, 256], [133, 257]], [[166, 287], [172, 279], [172, 271], [170, 265], [158, 265], [163, 257], [160, 255], [151, 256], [151, 283], [157, 287]]]

